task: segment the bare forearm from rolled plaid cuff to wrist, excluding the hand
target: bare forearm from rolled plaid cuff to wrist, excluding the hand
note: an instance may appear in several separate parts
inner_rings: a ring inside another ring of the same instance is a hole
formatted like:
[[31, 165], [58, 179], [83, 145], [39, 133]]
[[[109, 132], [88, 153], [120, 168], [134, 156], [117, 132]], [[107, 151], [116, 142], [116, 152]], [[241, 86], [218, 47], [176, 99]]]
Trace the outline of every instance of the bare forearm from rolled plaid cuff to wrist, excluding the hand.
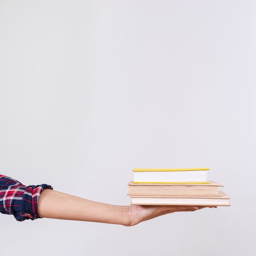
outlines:
[[129, 206], [118, 206], [90, 201], [74, 195], [45, 189], [38, 202], [42, 218], [82, 220], [130, 225]]

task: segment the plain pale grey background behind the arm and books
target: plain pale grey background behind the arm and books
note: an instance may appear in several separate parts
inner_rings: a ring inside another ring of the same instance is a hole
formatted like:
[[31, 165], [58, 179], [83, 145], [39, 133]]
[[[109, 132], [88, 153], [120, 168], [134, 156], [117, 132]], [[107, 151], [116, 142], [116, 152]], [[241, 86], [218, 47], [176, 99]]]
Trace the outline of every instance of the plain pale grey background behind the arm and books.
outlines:
[[0, 216], [0, 254], [254, 255], [256, 3], [0, 1], [0, 173], [130, 204], [133, 168], [209, 167], [231, 207], [134, 227]]

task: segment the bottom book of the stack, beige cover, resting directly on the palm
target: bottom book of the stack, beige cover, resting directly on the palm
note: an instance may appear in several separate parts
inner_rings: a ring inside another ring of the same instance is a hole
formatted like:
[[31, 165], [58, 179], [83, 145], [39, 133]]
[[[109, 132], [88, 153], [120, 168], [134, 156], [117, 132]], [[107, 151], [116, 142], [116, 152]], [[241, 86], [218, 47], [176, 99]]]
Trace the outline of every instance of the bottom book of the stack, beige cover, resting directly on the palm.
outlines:
[[132, 196], [131, 204], [139, 205], [194, 205], [194, 206], [230, 206], [229, 195], [219, 191], [216, 196]]

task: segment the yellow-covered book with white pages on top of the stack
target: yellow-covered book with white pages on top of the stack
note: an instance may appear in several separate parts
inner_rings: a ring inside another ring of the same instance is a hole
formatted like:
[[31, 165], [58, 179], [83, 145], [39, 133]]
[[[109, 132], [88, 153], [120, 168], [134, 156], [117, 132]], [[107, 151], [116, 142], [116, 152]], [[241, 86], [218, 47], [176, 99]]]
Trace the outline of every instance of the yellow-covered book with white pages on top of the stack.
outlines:
[[209, 168], [134, 169], [133, 183], [209, 183]]

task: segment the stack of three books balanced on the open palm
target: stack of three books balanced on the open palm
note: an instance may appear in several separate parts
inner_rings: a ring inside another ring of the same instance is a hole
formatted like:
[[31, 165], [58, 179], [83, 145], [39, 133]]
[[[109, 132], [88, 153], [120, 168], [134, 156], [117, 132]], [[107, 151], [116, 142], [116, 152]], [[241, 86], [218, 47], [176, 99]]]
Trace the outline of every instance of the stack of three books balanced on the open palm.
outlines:
[[209, 168], [134, 169], [128, 183], [131, 204], [230, 206], [230, 197], [207, 180]]

